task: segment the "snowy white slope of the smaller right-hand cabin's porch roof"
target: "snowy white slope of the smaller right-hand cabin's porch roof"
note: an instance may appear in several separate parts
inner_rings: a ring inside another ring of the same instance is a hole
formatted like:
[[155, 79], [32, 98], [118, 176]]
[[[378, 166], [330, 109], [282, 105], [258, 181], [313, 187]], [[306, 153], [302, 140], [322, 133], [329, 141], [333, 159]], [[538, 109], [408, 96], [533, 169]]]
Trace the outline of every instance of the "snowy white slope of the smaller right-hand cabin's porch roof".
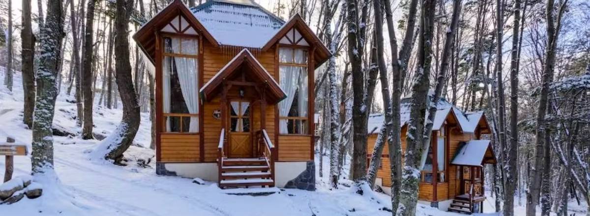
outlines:
[[481, 166], [488, 149], [490, 149], [489, 140], [470, 140], [460, 147], [451, 164]]

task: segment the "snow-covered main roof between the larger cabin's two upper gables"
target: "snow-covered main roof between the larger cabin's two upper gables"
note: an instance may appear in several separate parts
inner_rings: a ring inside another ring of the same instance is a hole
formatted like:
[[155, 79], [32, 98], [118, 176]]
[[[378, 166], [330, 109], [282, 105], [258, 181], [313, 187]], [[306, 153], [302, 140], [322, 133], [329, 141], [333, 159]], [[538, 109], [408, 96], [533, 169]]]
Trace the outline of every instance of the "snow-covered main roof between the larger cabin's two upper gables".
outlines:
[[285, 24], [251, 0], [210, 0], [191, 12], [221, 45], [262, 48]]

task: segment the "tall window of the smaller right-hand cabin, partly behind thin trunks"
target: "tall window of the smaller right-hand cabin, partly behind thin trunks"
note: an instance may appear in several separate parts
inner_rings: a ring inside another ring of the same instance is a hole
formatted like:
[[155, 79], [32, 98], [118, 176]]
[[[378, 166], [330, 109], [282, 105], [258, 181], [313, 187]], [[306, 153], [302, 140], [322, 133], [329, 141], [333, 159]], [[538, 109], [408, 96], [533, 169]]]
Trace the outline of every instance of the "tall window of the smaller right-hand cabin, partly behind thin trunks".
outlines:
[[437, 139], [432, 142], [432, 145], [428, 146], [428, 149], [425, 149], [422, 155], [422, 170], [421, 170], [421, 181], [432, 183], [434, 180], [433, 178], [433, 169], [432, 166], [434, 165], [434, 151], [432, 147], [437, 148], [437, 182], [445, 182], [445, 159], [446, 159], [446, 148], [445, 148], [445, 141], [447, 136], [445, 134], [444, 125], [441, 126], [441, 129], [436, 133]]

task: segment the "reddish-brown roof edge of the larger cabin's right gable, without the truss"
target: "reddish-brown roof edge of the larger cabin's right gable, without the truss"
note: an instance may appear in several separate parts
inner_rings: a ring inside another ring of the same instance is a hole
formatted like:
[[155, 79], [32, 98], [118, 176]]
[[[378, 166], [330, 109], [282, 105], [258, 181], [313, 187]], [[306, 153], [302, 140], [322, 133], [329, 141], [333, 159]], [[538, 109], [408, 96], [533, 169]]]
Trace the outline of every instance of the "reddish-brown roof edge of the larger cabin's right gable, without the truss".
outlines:
[[301, 15], [295, 14], [293, 17], [289, 19], [281, 28], [276, 32], [276, 34], [266, 42], [266, 44], [262, 47], [263, 51], [267, 51], [270, 49], [274, 44], [276, 44], [283, 36], [287, 34], [291, 29], [299, 30], [303, 39], [305, 39], [308, 44], [314, 45], [316, 49], [314, 50], [314, 67], [319, 67], [324, 62], [327, 61], [328, 58], [332, 55], [328, 48], [324, 46], [324, 44], [317, 38], [317, 35], [313, 33], [312, 29], [307, 26]]

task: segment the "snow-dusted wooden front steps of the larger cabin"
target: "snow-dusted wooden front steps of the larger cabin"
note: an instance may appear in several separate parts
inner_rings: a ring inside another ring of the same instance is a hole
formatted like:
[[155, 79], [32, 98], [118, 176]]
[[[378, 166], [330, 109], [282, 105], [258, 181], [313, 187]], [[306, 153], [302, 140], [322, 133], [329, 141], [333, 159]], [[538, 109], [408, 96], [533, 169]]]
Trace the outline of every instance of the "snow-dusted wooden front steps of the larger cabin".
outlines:
[[266, 157], [222, 158], [220, 188], [274, 187], [270, 164]]

